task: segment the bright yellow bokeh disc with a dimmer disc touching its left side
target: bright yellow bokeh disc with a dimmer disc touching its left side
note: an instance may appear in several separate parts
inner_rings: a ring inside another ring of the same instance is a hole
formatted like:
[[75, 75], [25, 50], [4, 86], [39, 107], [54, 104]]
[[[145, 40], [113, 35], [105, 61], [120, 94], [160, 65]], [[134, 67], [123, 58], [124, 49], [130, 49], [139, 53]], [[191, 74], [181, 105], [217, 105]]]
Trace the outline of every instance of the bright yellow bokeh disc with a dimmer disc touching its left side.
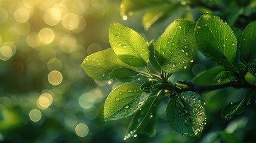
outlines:
[[42, 43], [44, 43], [44, 44], [49, 44], [49, 43], [53, 42], [53, 40], [55, 38], [54, 31], [47, 27], [44, 29], [41, 29], [39, 32], [39, 35], [41, 36]]

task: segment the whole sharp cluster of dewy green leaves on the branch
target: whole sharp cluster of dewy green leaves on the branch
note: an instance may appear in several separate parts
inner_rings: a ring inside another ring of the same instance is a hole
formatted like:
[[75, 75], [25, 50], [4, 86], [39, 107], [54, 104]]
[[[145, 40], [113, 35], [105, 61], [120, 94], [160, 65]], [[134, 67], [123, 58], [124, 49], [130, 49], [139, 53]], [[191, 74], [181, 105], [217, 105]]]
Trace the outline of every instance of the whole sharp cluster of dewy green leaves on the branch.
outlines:
[[[196, 88], [203, 91], [230, 85], [255, 91], [245, 80], [246, 73], [256, 77], [255, 33], [256, 21], [246, 27], [238, 41], [239, 34], [221, 18], [203, 14], [196, 23], [175, 20], [156, 42], [148, 43], [135, 30], [113, 22], [109, 28], [111, 48], [89, 55], [82, 67], [93, 79], [124, 82], [110, 92], [104, 104], [104, 120], [133, 116], [124, 139], [136, 137], [140, 131], [153, 133], [156, 108], [165, 97], [171, 97], [166, 117], [172, 129], [184, 136], [200, 136], [206, 125], [205, 102]], [[220, 67], [206, 70], [190, 84], [172, 83], [171, 76], [187, 69], [198, 49]], [[251, 93], [224, 107], [221, 117], [228, 120], [242, 113]]]

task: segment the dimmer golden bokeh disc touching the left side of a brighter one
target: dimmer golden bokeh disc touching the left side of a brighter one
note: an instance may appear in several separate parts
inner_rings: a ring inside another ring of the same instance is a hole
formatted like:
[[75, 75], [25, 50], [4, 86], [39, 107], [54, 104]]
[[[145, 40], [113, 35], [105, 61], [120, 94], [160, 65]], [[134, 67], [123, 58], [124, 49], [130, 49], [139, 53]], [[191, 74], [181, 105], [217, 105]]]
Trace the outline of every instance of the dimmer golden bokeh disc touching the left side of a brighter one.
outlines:
[[32, 32], [29, 33], [29, 35], [27, 35], [26, 41], [27, 45], [29, 45], [32, 48], [36, 48], [41, 45], [42, 38], [38, 33]]

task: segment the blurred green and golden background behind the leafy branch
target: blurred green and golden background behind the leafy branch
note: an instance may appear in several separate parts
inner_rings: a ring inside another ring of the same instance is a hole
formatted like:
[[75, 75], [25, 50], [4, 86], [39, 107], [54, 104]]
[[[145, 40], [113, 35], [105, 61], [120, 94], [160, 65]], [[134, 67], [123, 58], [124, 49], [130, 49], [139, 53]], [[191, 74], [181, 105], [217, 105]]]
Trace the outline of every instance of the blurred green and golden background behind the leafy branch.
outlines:
[[[121, 82], [92, 80], [81, 63], [87, 55], [110, 47], [112, 21], [150, 41], [179, 14], [144, 30], [144, 10], [121, 17], [120, 5], [119, 0], [0, 1], [0, 141], [124, 142], [130, 119], [103, 120], [106, 96]], [[199, 15], [187, 17], [196, 21]], [[192, 65], [172, 80], [191, 80], [214, 66], [198, 53]], [[208, 124], [201, 139], [183, 137], [169, 127], [166, 99], [158, 107], [155, 133], [125, 142], [256, 142], [255, 105], [231, 122], [220, 117], [224, 105], [239, 101], [244, 92], [222, 89], [202, 95]]]

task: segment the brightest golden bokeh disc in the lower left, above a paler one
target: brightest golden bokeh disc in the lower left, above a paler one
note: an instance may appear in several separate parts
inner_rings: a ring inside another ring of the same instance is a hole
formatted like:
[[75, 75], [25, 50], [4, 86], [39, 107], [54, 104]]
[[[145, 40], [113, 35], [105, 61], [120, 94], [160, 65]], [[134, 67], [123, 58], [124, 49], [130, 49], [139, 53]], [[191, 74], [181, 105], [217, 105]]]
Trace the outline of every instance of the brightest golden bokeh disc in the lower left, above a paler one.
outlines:
[[50, 94], [44, 93], [40, 95], [36, 104], [38, 108], [45, 110], [53, 103], [53, 97]]

